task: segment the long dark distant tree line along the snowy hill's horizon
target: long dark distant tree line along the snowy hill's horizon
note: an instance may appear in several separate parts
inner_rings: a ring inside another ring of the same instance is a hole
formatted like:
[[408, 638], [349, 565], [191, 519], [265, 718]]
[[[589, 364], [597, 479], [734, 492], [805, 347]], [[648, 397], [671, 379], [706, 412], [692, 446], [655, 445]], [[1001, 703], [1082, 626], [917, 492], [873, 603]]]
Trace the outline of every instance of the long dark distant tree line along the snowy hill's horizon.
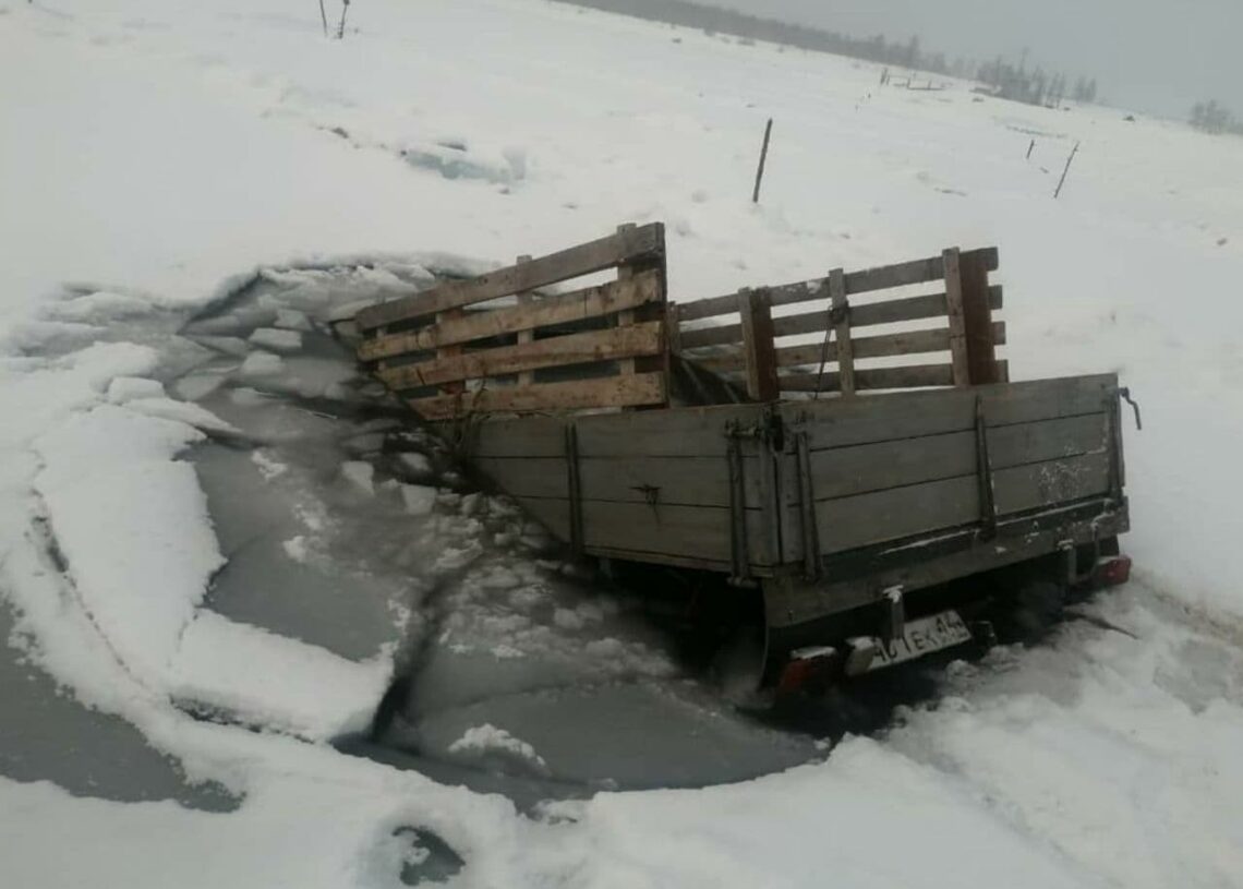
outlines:
[[950, 61], [943, 52], [924, 50], [917, 36], [905, 41], [892, 41], [881, 34], [871, 37], [851, 37], [837, 31], [825, 31], [776, 19], [761, 19], [746, 12], [706, 6], [691, 0], [561, 1], [682, 27], [696, 27], [709, 34], [730, 34], [747, 40], [763, 40], [803, 50], [832, 52], [894, 67], [979, 80], [991, 87], [996, 96], [1016, 102], [1057, 107], [1068, 96], [1079, 102], [1096, 99], [1095, 80], [1088, 81], [1080, 77], [1074, 86], [1069, 86], [1063, 75], [1047, 75], [1040, 68], [1029, 72], [1022, 63], [1014, 67], [1001, 58], [984, 65], [977, 65], [961, 57]]

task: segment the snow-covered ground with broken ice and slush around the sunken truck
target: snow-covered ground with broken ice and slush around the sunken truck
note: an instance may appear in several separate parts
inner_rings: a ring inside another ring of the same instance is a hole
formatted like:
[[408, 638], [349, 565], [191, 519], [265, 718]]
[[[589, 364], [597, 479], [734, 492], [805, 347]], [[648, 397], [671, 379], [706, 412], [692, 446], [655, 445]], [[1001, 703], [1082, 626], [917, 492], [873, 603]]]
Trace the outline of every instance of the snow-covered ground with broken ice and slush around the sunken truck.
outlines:
[[[543, 0], [351, 9], [0, 0], [4, 885], [1243, 885], [1243, 140]], [[999, 246], [1012, 378], [1142, 405], [1132, 582], [830, 750], [327, 333], [654, 220], [680, 302]]]

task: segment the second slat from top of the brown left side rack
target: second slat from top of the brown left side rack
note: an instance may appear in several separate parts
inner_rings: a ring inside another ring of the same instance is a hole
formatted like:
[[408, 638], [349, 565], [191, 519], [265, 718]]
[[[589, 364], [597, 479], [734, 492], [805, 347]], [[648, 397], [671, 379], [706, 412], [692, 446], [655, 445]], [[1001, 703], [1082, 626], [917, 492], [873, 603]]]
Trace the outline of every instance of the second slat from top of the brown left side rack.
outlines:
[[425, 352], [450, 343], [498, 337], [538, 327], [574, 323], [635, 308], [661, 298], [660, 274], [648, 271], [630, 281], [610, 281], [584, 287], [571, 293], [547, 296], [531, 306], [512, 306], [486, 312], [472, 312], [456, 321], [424, 327], [418, 331], [392, 333], [365, 339], [358, 347], [360, 361], [377, 361], [409, 352]]

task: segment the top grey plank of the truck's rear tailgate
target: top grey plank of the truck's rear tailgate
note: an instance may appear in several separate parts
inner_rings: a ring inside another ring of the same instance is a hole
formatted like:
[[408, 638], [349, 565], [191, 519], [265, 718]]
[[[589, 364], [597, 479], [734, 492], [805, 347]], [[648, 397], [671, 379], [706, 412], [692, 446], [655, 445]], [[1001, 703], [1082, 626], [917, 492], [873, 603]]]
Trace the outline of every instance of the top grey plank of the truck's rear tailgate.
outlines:
[[782, 404], [789, 429], [807, 429], [813, 450], [976, 428], [976, 397], [988, 428], [1095, 414], [1117, 392], [1115, 374], [1063, 377], [971, 389], [930, 389]]

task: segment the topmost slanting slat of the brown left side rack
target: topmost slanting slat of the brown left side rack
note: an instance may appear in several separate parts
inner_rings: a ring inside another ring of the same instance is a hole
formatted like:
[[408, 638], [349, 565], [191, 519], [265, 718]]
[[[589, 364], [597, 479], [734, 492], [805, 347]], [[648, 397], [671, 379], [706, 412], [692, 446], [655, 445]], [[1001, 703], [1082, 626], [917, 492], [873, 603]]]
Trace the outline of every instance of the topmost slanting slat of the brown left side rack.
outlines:
[[522, 265], [498, 269], [469, 281], [450, 281], [420, 293], [404, 296], [362, 310], [355, 321], [360, 331], [392, 325], [447, 308], [469, 306], [498, 296], [544, 287], [557, 281], [590, 275], [640, 256], [659, 255], [665, 249], [665, 226], [651, 223], [624, 234], [533, 259]]

